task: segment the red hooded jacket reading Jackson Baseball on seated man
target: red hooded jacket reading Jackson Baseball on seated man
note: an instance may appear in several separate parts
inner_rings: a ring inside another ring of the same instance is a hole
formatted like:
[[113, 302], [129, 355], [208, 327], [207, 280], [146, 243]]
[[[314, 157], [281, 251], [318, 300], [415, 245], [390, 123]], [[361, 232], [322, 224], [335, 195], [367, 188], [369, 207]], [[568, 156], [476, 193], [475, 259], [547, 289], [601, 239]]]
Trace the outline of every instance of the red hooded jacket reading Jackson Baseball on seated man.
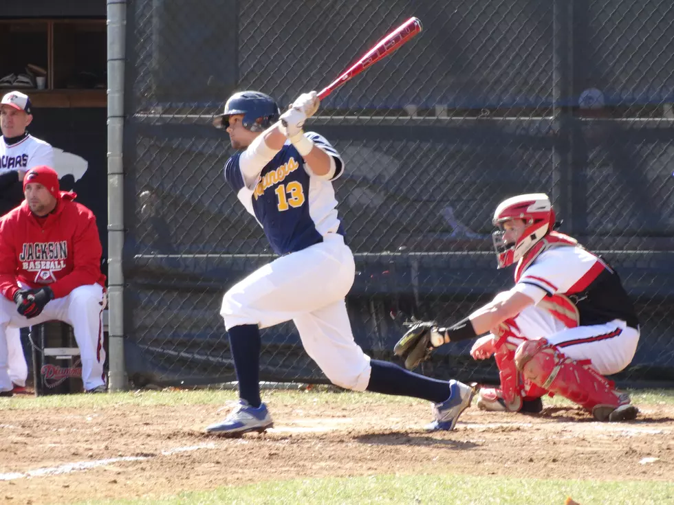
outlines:
[[60, 196], [45, 219], [30, 212], [25, 200], [0, 219], [0, 293], [8, 300], [20, 289], [17, 281], [38, 289], [49, 284], [54, 298], [89, 284], [105, 287], [96, 217], [73, 201], [74, 192]]

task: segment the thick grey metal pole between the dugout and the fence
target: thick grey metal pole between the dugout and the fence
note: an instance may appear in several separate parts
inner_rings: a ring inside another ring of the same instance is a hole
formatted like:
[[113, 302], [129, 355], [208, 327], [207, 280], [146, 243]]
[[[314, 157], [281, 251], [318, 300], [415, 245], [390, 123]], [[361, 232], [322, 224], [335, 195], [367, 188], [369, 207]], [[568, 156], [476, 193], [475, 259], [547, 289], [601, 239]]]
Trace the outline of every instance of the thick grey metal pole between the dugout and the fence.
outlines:
[[124, 58], [127, 2], [107, 0], [109, 389], [127, 389], [124, 370]]

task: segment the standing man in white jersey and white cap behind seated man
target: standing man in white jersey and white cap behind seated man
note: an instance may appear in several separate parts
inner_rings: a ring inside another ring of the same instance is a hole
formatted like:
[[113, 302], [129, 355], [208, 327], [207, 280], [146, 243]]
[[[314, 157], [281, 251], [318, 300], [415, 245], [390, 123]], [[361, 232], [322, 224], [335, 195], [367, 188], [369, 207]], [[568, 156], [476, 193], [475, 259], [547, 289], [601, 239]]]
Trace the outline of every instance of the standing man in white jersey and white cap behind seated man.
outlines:
[[[28, 95], [10, 91], [0, 104], [0, 216], [18, 207], [23, 201], [23, 176], [36, 166], [54, 166], [52, 146], [36, 139], [26, 128], [33, 120]], [[21, 347], [18, 328], [8, 328], [8, 364], [14, 390], [25, 388], [28, 365]]]

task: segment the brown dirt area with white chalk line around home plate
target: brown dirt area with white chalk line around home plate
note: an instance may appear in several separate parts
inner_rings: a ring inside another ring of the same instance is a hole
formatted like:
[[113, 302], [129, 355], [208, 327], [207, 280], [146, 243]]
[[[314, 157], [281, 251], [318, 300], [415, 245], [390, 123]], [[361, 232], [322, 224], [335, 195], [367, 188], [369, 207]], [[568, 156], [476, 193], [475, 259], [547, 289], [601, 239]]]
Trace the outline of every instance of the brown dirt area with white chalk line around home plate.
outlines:
[[455, 431], [430, 435], [422, 429], [430, 409], [419, 401], [300, 408], [272, 396], [269, 405], [275, 428], [238, 440], [202, 434], [224, 415], [214, 405], [0, 411], [0, 500], [77, 502], [375, 473], [674, 475], [674, 407], [666, 405], [640, 405], [639, 420], [624, 424], [596, 423], [572, 407], [535, 416], [472, 407]]

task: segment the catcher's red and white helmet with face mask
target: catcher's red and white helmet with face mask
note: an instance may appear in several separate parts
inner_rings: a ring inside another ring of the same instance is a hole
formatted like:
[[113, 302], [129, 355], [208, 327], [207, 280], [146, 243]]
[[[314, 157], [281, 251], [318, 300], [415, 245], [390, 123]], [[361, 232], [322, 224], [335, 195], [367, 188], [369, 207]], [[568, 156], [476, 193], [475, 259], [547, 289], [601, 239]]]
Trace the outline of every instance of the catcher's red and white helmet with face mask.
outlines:
[[[505, 243], [503, 223], [511, 219], [522, 219], [525, 228], [517, 242]], [[499, 203], [492, 223], [499, 228], [492, 233], [492, 240], [501, 269], [519, 261], [537, 242], [552, 232], [555, 215], [547, 194], [520, 194]]]

